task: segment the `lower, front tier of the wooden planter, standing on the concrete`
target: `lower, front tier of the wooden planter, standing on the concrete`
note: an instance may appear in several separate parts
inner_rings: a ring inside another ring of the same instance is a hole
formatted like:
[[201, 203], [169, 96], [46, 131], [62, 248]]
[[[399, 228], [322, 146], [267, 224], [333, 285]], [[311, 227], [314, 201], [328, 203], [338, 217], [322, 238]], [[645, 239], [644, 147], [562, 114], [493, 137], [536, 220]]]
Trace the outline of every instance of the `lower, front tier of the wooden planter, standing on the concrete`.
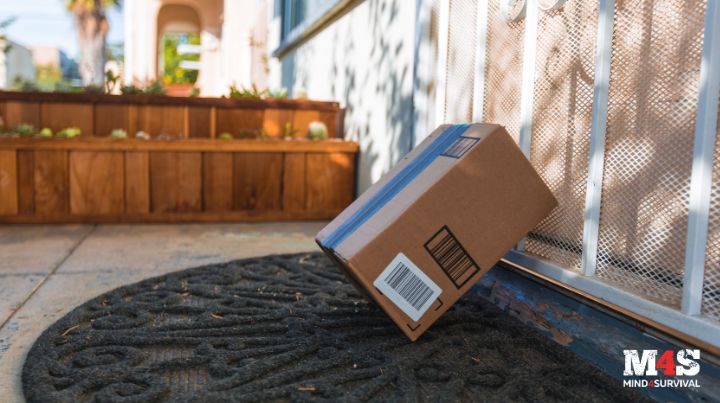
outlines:
[[0, 139], [0, 222], [330, 219], [353, 199], [341, 140]]

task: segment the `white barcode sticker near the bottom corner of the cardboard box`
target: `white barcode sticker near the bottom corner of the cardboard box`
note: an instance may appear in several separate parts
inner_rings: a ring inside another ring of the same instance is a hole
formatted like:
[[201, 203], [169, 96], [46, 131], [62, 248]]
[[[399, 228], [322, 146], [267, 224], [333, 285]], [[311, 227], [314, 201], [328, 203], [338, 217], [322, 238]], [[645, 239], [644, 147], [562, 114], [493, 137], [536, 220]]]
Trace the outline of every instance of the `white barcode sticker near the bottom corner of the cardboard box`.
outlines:
[[402, 253], [395, 256], [373, 285], [415, 322], [420, 320], [442, 292], [430, 277]]

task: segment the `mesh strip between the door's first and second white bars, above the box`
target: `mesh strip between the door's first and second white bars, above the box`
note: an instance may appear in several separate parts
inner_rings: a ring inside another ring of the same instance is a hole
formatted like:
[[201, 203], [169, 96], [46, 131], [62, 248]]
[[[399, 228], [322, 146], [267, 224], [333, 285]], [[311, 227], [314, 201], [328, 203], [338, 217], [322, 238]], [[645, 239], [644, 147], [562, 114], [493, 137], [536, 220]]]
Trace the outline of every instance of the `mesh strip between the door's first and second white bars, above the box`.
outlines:
[[483, 120], [505, 126], [517, 140], [525, 20], [506, 21], [500, 13], [499, 1], [489, 1], [487, 7]]

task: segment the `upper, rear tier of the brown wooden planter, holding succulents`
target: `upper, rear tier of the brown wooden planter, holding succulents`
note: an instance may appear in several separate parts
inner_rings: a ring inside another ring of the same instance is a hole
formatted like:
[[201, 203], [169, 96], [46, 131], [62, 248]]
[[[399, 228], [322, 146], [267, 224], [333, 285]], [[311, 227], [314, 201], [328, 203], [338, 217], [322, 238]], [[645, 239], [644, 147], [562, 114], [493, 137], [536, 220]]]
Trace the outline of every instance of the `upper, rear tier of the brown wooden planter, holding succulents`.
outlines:
[[310, 122], [320, 121], [328, 137], [342, 137], [337, 102], [294, 99], [246, 100], [151, 95], [65, 94], [0, 91], [0, 116], [5, 127], [29, 123], [53, 132], [79, 127], [84, 136], [106, 137], [124, 129], [130, 137], [139, 130], [152, 136], [216, 138], [221, 133], [264, 130], [282, 137], [287, 124], [304, 137]]

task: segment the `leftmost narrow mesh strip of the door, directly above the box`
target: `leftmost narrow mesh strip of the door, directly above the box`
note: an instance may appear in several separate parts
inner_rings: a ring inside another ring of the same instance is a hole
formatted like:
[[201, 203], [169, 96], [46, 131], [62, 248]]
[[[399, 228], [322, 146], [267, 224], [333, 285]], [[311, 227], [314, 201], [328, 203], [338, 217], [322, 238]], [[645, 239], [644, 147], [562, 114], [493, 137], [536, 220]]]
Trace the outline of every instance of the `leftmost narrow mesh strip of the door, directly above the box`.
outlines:
[[472, 121], [477, 1], [451, 0], [445, 78], [445, 122]]

